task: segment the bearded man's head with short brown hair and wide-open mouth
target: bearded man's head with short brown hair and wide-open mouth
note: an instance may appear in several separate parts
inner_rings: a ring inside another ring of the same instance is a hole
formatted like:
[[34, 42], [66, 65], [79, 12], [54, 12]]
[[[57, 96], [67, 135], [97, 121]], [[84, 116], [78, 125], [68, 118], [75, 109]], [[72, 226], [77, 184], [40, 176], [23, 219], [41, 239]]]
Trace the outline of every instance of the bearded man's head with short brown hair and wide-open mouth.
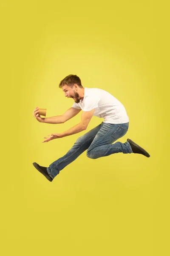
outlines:
[[84, 91], [81, 80], [76, 75], [68, 75], [59, 83], [59, 88], [62, 88], [65, 97], [73, 98], [74, 102], [79, 103]]

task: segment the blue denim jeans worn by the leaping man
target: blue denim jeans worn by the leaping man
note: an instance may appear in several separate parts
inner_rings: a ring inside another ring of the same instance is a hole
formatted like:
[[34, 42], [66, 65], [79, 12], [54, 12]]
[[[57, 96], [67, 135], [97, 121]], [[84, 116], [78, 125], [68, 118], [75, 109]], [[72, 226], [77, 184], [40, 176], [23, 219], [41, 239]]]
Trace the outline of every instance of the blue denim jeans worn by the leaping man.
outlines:
[[54, 178], [65, 166], [72, 163], [80, 154], [87, 150], [87, 157], [96, 159], [110, 154], [122, 152], [133, 153], [128, 142], [121, 143], [118, 140], [127, 133], [129, 122], [124, 124], [110, 124], [102, 122], [91, 131], [77, 139], [72, 148], [63, 157], [51, 163], [47, 172]]

